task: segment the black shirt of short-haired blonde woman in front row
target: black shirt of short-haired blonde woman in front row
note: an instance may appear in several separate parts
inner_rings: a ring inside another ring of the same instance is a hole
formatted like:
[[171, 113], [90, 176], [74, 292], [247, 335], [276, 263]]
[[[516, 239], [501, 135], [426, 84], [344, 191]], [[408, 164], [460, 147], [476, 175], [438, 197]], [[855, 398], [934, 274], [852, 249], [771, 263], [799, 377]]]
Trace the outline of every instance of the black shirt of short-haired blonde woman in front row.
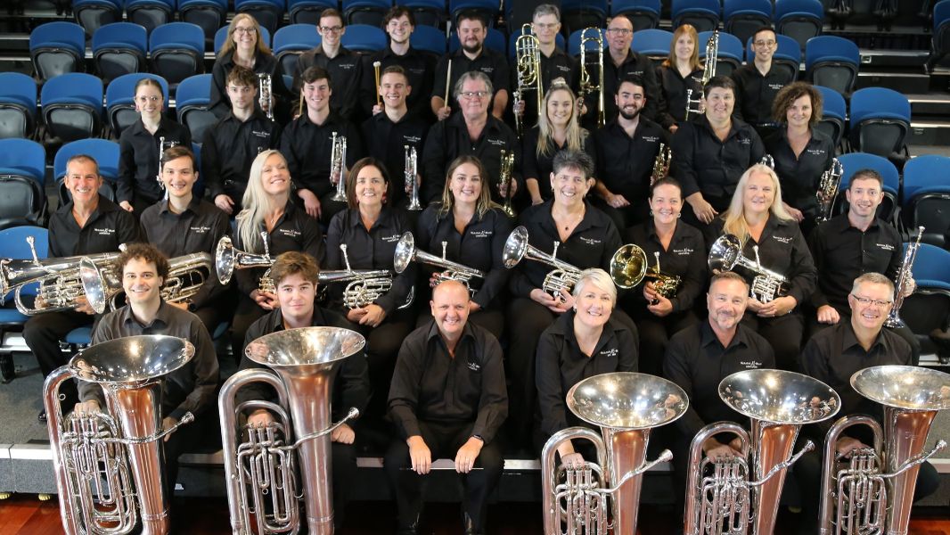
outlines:
[[591, 427], [567, 410], [564, 398], [582, 379], [601, 373], [637, 372], [637, 334], [613, 317], [600, 332], [594, 352], [580, 351], [573, 311], [562, 314], [538, 340], [535, 382], [545, 436], [571, 426]]

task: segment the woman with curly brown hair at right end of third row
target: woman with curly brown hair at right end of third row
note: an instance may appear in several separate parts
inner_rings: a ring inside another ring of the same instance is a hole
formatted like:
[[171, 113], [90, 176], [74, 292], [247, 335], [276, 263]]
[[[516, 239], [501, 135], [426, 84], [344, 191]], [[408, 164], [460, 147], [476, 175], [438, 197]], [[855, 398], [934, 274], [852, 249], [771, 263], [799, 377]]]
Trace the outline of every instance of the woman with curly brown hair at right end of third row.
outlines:
[[806, 236], [818, 216], [815, 191], [835, 153], [831, 138], [815, 128], [822, 119], [822, 103], [821, 91], [810, 84], [785, 86], [772, 103], [772, 117], [780, 127], [765, 140], [782, 182], [786, 210]]

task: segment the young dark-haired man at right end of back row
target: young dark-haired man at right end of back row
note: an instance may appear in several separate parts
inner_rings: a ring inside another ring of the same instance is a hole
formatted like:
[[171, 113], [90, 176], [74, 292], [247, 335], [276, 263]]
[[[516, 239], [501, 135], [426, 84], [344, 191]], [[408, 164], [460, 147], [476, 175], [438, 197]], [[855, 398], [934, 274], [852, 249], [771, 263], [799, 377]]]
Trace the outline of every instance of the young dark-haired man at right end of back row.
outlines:
[[775, 95], [795, 81], [788, 69], [776, 68], [772, 64], [776, 48], [775, 30], [768, 26], [759, 29], [752, 36], [755, 58], [732, 72], [738, 101], [735, 116], [751, 124], [763, 139], [775, 128], [771, 117]]

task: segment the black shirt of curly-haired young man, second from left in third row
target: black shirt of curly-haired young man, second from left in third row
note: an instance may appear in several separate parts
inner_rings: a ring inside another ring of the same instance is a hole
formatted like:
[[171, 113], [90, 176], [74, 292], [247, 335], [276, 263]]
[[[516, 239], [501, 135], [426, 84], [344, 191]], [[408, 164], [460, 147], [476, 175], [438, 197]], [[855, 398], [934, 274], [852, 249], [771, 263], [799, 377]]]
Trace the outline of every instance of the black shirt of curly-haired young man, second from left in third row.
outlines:
[[278, 146], [280, 125], [263, 112], [255, 111], [242, 122], [228, 111], [205, 131], [201, 143], [201, 180], [209, 197], [228, 195], [239, 204], [257, 155]]

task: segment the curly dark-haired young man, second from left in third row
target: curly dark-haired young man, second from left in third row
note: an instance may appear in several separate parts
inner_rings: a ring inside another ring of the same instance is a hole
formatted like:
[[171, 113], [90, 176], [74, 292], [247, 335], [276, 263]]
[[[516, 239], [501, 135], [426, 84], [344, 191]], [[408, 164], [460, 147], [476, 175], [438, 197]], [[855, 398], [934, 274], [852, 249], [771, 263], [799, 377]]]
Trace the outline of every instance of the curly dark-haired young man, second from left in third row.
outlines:
[[261, 151], [278, 146], [280, 126], [255, 106], [257, 75], [253, 70], [234, 67], [226, 90], [231, 111], [204, 134], [201, 177], [215, 205], [234, 216], [241, 210], [251, 163]]

